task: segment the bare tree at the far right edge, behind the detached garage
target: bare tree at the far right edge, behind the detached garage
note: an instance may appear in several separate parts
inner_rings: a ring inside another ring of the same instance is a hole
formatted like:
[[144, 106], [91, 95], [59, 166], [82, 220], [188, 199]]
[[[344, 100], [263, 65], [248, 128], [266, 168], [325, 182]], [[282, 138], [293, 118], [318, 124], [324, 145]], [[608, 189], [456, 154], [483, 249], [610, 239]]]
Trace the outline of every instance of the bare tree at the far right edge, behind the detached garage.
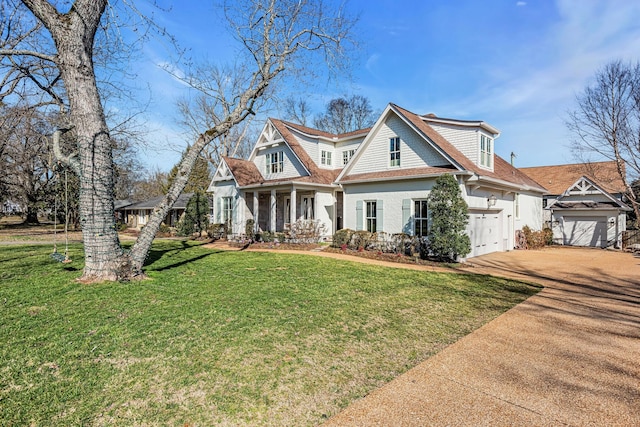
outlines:
[[596, 72], [576, 98], [567, 126], [576, 155], [616, 162], [636, 218], [640, 206], [631, 183], [640, 177], [640, 64], [613, 61]]

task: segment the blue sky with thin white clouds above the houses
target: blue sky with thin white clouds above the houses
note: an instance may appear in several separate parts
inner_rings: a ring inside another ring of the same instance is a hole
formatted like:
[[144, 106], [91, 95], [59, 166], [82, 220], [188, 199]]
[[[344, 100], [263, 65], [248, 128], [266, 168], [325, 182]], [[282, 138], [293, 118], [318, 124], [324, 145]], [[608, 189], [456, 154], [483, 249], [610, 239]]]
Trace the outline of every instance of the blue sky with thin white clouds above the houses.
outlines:
[[[304, 95], [318, 109], [343, 94], [360, 94], [376, 110], [394, 102], [415, 113], [484, 120], [500, 129], [496, 153], [517, 166], [572, 163], [564, 121], [575, 96], [611, 60], [640, 60], [640, 2], [635, 0], [351, 0], [362, 48], [352, 78]], [[213, 3], [174, 3], [158, 15], [195, 58], [222, 61], [230, 39], [215, 25]], [[184, 144], [175, 101], [187, 94], [158, 65], [163, 49], [148, 46], [139, 63], [152, 103], [153, 134], [142, 151], [149, 167], [168, 170]], [[264, 112], [279, 116], [277, 111]]]

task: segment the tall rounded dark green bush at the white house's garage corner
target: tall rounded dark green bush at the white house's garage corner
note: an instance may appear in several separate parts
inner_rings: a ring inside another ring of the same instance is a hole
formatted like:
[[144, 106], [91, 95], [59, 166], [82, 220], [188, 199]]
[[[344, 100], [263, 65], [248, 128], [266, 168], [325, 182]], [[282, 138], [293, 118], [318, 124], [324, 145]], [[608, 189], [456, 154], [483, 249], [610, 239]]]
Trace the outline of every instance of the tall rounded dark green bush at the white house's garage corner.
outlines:
[[467, 203], [452, 175], [441, 175], [428, 198], [431, 224], [428, 241], [430, 253], [442, 261], [456, 261], [471, 252], [465, 233], [469, 222]]

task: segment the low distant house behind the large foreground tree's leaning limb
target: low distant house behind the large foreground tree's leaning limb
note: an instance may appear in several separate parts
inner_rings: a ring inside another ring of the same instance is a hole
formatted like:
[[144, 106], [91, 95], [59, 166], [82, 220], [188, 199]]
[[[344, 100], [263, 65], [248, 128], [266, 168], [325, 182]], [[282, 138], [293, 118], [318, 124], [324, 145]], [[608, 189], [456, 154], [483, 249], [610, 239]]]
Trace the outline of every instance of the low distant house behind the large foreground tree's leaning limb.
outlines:
[[[171, 211], [163, 221], [165, 225], [175, 227], [178, 224], [182, 214], [184, 214], [184, 211], [187, 209], [187, 202], [189, 202], [191, 196], [193, 196], [193, 193], [183, 193], [178, 196], [178, 200], [176, 200]], [[116, 201], [116, 215], [118, 219], [127, 224], [128, 227], [140, 230], [147, 224], [153, 209], [163, 198], [164, 196], [158, 196], [136, 203], [128, 200]]]

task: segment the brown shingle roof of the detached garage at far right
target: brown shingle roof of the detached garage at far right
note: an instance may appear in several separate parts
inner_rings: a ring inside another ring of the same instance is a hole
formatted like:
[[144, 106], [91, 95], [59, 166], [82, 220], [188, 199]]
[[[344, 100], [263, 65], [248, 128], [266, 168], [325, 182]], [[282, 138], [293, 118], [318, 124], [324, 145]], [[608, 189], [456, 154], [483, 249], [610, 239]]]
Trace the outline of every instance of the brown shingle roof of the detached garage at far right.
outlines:
[[616, 162], [576, 163], [556, 166], [520, 168], [539, 184], [549, 190], [549, 194], [559, 195], [582, 176], [591, 178], [611, 194], [624, 193], [624, 183], [618, 174]]

